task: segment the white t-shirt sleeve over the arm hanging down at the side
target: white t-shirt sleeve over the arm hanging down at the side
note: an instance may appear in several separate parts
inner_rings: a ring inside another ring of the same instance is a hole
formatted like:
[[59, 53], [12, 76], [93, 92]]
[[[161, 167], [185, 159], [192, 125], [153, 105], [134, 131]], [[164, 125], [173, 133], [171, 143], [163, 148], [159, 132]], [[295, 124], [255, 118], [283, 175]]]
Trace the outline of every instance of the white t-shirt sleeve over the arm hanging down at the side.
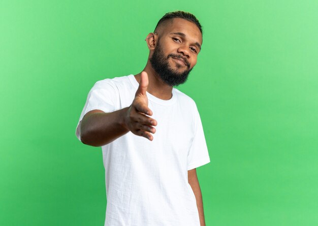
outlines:
[[210, 163], [209, 152], [204, 137], [203, 126], [198, 112], [195, 107], [195, 136], [187, 156], [187, 170], [203, 166]]

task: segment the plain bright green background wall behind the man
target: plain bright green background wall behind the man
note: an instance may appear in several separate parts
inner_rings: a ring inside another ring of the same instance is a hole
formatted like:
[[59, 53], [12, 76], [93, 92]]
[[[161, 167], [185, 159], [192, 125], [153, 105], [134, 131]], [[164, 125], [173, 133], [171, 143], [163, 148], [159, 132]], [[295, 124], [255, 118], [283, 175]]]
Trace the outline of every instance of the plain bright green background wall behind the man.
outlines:
[[207, 225], [318, 225], [317, 1], [1, 1], [0, 225], [104, 225], [102, 151], [75, 128], [92, 85], [138, 74], [167, 12], [203, 26], [178, 88], [211, 163]]

